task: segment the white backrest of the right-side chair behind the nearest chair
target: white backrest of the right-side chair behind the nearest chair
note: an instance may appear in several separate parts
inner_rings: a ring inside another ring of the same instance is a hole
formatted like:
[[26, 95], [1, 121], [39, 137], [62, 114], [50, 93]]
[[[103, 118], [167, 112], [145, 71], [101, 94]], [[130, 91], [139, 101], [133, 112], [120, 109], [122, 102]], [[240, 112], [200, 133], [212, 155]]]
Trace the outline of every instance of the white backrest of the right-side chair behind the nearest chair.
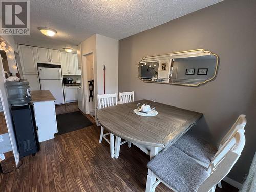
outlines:
[[219, 148], [238, 130], [244, 130], [244, 127], [246, 125], [246, 118], [245, 115], [239, 115], [238, 119], [234, 124], [232, 125], [231, 129], [227, 132], [227, 134], [223, 137], [223, 139], [220, 142]]

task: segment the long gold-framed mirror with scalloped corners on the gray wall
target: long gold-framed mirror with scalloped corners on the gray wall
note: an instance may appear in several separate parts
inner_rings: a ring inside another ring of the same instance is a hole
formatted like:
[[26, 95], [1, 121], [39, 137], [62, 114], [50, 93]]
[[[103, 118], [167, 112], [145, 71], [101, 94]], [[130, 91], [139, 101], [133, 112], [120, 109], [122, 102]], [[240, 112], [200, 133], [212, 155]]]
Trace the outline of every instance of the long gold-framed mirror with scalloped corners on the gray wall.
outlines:
[[143, 82], [199, 86], [215, 78], [218, 56], [203, 49], [143, 58], [138, 77]]

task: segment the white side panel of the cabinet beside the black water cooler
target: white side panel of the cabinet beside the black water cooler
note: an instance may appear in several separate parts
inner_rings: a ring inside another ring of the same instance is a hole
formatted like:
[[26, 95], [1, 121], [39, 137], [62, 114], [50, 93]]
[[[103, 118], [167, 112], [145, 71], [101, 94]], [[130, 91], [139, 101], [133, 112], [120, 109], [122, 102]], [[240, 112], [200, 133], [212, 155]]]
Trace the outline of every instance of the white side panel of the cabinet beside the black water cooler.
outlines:
[[39, 142], [53, 139], [58, 132], [54, 101], [34, 102], [34, 114]]

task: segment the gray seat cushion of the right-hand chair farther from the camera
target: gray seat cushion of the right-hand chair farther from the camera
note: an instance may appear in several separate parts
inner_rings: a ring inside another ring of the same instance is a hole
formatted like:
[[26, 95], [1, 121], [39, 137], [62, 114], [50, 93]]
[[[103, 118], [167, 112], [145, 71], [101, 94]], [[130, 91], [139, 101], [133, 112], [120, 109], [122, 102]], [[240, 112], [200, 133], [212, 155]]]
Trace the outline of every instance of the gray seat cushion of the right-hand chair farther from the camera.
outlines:
[[210, 164], [212, 158], [217, 152], [217, 148], [203, 139], [194, 137], [190, 134], [184, 134], [173, 146], [179, 148], [190, 157], [193, 157], [203, 163]]

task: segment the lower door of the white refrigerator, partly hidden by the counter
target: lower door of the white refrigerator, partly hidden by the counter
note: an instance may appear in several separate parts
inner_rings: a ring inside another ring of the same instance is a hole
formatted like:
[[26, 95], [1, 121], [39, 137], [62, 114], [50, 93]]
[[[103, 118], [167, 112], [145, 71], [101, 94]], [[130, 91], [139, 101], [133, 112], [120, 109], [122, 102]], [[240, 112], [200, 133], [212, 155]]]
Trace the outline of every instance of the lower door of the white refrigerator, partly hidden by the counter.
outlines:
[[55, 104], [64, 104], [62, 80], [41, 80], [41, 90], [50, 90], [54, 96]]

